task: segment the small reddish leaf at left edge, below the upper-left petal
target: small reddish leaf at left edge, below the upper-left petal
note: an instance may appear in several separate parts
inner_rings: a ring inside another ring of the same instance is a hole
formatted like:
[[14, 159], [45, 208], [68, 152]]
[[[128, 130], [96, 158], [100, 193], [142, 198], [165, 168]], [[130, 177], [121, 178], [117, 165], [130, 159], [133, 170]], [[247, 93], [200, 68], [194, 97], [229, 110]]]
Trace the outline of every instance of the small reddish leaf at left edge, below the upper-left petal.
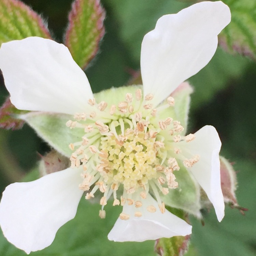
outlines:
[[17, 115], [27, 112], [16, 109], [10, 101], [10, 97], [7, 98], [0, 108], [0, 127], [7, 130], [18, 130], [22, 128], [24, 120], [18, 119]]

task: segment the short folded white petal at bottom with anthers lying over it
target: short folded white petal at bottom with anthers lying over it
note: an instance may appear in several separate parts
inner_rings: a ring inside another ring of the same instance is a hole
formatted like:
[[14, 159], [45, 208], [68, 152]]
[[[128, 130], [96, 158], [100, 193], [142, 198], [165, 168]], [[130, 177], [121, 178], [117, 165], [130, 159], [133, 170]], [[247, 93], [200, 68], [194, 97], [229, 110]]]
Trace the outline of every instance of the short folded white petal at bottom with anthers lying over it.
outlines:
[[[156, 212], [146, 210], [148, 205], [153, 205]], [[134, 213], [141, 211], [141, 217], [135, 217]], [[183, 219], [168, 212], [161, 213], [156, 200], [150, 195], [143, 201], [140, 208], [125, 204], [123, 213], [129, 214], [128, 220], [117, 219], [114, 227], [108, 234], [108, 239], [115, 242], [156, 240], [162, 237], [186, 236], [191, 234], [192, 227]]]

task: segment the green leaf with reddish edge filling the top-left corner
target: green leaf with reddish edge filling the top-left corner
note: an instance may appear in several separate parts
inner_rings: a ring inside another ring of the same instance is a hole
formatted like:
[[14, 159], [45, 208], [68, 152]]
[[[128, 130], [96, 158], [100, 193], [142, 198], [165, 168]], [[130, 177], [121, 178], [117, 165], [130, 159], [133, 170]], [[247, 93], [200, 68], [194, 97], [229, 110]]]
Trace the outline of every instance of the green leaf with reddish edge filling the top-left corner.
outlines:
[[44, 20], [21, 1], [1, 0], [0, 45], [32, 36], [51, 38]]

